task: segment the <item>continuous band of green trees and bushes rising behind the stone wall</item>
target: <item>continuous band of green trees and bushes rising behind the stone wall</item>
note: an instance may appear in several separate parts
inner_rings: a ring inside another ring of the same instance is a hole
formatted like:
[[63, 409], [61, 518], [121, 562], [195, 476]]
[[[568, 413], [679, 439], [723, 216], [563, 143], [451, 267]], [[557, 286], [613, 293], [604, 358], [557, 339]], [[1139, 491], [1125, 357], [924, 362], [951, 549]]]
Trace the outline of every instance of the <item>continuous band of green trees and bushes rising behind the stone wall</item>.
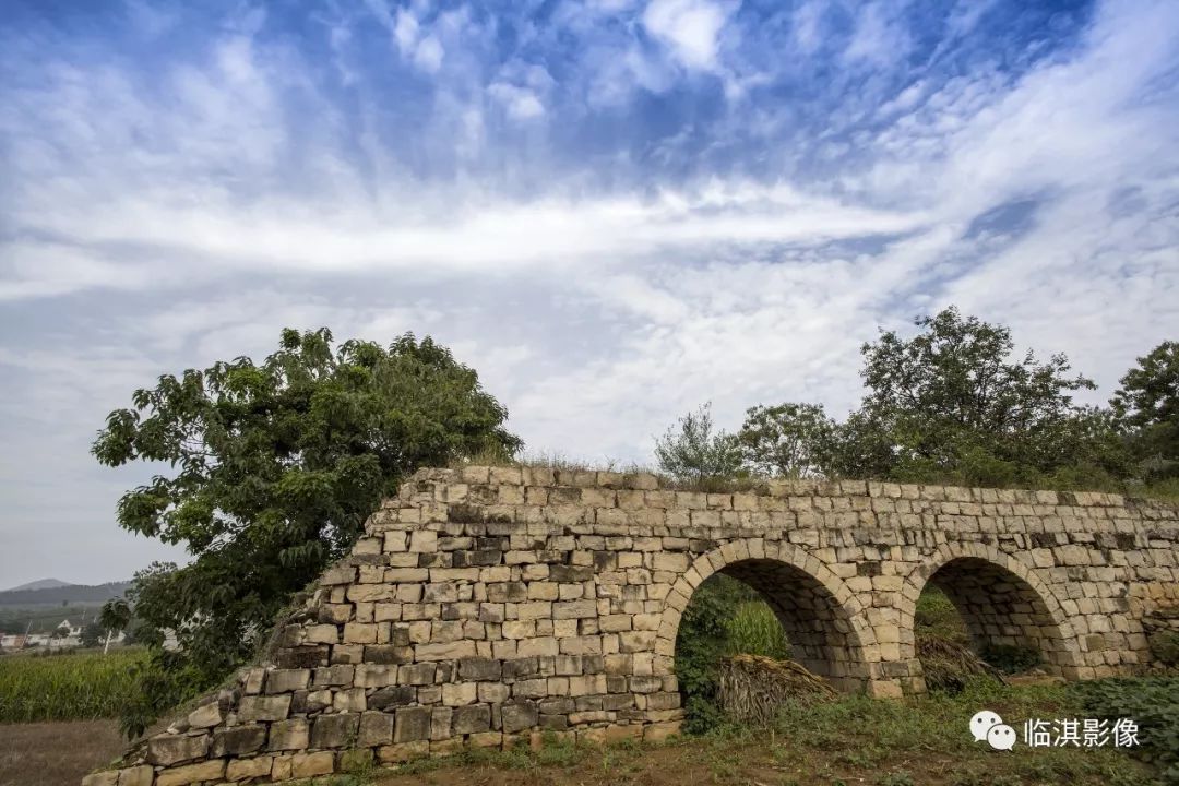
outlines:
[[842, 423], [819, 404], [757, 405], [729, 437], [702, 408], [660, 440], [660, 468], [692, 481], [744, 473], [1113, 488], [1135, 476], [1137, 456], [1148, 473], [1179, 474], [1179, 344], [1141, 358], [1113, 408], [1100, 409], [1074, 401], [1094, 384], [1071, 374], [1067, 357], [1016, 355], [1006, 326], [954, 308], [915, 325], [911, 337], [882, 331], [863, 345], [867, 391]]

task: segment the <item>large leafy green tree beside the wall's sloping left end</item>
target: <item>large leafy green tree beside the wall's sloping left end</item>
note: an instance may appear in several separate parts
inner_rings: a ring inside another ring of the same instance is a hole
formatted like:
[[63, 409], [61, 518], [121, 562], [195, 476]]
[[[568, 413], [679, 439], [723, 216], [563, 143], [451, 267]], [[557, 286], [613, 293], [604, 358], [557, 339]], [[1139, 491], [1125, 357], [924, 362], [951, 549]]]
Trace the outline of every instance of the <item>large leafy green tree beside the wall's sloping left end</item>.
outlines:
[[382, 348], [288, 329], [261, 364], [165, 375], [132, 402], [107, 417], [95, 457], [171, 471], [125, 494], [118, 522], [193, 559], [154, 564], [129, 590], [151, 652], [129, 734], [248, 659], [408, 474], [521, 447], [475, 371], [409, 333]]

